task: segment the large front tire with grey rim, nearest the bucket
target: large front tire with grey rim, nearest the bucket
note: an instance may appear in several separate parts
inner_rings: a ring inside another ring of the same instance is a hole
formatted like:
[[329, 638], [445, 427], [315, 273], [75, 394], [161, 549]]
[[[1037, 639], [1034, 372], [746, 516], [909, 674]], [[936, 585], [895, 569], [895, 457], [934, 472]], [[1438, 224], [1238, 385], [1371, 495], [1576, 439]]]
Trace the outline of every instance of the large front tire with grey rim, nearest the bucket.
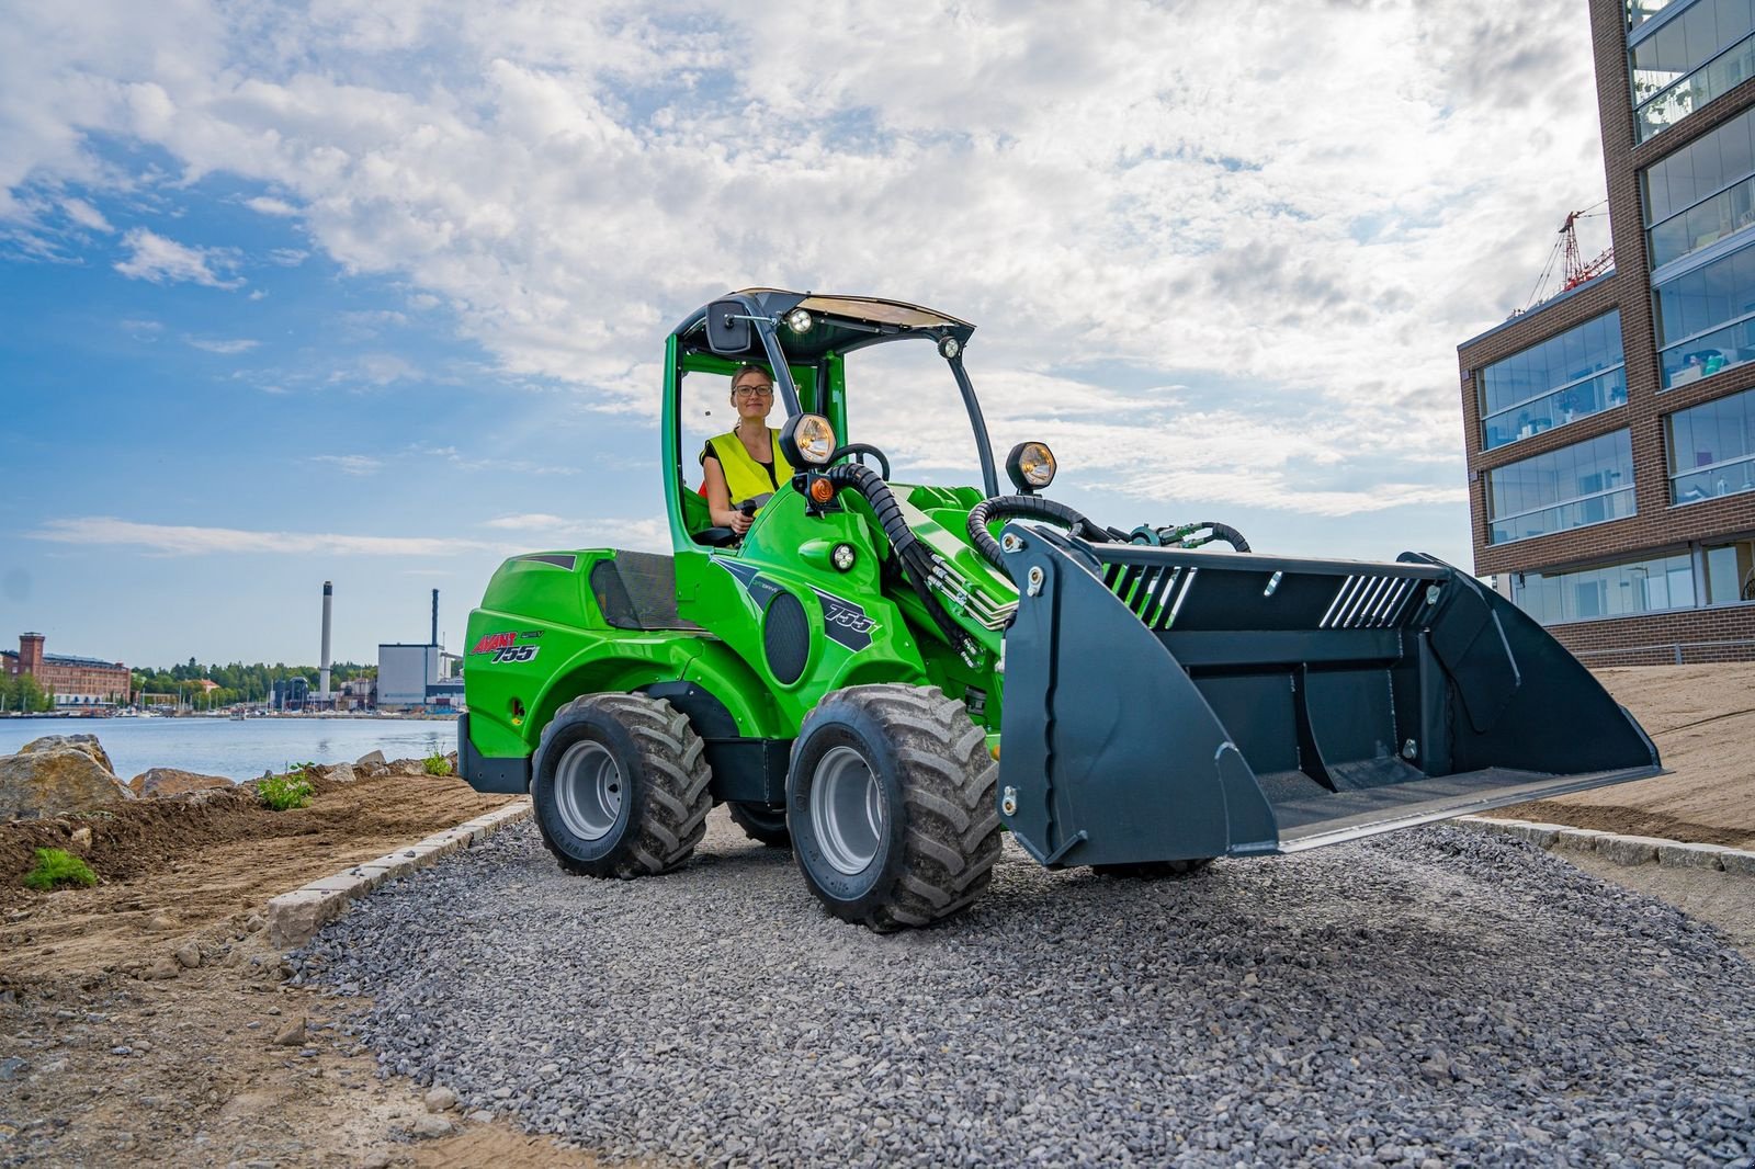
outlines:
[[806, 883], [832, 914], [878, 932], [967, 909], [999, 860], [997, 774], [986, 734], [935, 686], [827, 693], [786, 776]]

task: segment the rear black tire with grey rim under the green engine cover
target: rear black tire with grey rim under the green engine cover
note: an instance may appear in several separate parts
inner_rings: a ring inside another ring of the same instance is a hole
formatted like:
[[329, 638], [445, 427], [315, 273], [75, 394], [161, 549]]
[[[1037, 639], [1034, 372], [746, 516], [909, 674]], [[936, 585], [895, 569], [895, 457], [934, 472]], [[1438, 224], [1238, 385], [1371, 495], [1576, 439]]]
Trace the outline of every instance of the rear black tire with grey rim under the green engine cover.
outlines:
[[663, 699], [595, 693], [542, 728], [530, 800], [567, 872], [637, 878], [676, 869], [707, 830], [706, 746]]

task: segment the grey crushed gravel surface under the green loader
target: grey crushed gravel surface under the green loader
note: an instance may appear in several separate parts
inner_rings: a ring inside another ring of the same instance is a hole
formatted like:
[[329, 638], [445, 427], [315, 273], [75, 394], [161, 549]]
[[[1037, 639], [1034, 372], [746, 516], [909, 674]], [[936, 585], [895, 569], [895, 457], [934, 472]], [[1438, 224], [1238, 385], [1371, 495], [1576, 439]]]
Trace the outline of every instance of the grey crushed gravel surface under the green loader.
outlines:
[[1736, 1164], [1755, 969], [1709, 927], [1437, 827], [1193, 879], [1007, 841], [944, 927], [828, 918], [714, 813], [563, 876], [530, 827], [295, 955], [386, 1072], [614, 1157], [804, 1164]]

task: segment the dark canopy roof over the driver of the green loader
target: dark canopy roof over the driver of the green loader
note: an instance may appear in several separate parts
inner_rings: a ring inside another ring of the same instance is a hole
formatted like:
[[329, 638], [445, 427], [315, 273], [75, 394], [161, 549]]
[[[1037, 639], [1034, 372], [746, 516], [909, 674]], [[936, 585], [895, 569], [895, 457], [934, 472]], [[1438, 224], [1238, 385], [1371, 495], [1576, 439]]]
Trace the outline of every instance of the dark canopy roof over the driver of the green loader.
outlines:
[[[846, 353], [862, 346], [899, 341], [904, 337], [955, 337], [960, 344], [969, 344], [969, 335], [976, 330], [969, 321], [962, 321], [937, 309], [927, 309], [900, 300], [881, 300], [878, 297], [842, 297], [835, 293], [795, 293], [783, 288], [744, 288], [727, 293], [721, 300], [746, 300], [755, 314], [781, 318], [793, 309], [804, 309], [814, 319], [806, 333], [790, 328], [774, 330], [776, 339], [795, 362], [816, 362], [825, 353]], [[697, 309], [676, 326], [676, 335], [683, 344], [704, 349], [707, 346], [707, 309]], [[732, 360], [765, 362], [767, 351], [760, 337], [751, 337], [749, 349], [742, 355], [723, 353]]]

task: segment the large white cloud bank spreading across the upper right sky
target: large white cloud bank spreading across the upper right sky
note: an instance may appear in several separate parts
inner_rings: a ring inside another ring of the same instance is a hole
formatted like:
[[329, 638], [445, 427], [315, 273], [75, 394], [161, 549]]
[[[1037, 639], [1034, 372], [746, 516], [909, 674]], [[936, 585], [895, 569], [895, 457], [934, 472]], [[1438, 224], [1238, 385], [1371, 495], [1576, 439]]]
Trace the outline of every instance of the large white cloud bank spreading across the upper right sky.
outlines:
[[[1083, 467], [1123, 481], [1125, 453], [1195, 476], [1167, 490], [1323, 514], [1460, 498], [1455, 346], [1602, 184], [1588, 21], [1541, 5], [1092, 0], [1069, 28], [979, 0], [188, 0], [161, 23], [118, 0], [23, 23], [60, 51], [0, 68], [0, 123], [26, 126], [0, 218], [32, 184], [126, 181], [86, 133], [146, 142], [184, 181], [261, 183], [247, 205], [448, 305], [502, 372], [623, 412], [651, 412], [665, 330], [727, 286], [918, 298], [981, 323], [995, 418], [1055, 427]], [[118, 267], [226, 286], [163, 244]], [[1146, 376], [1065, 372], [1093, 363]]]

